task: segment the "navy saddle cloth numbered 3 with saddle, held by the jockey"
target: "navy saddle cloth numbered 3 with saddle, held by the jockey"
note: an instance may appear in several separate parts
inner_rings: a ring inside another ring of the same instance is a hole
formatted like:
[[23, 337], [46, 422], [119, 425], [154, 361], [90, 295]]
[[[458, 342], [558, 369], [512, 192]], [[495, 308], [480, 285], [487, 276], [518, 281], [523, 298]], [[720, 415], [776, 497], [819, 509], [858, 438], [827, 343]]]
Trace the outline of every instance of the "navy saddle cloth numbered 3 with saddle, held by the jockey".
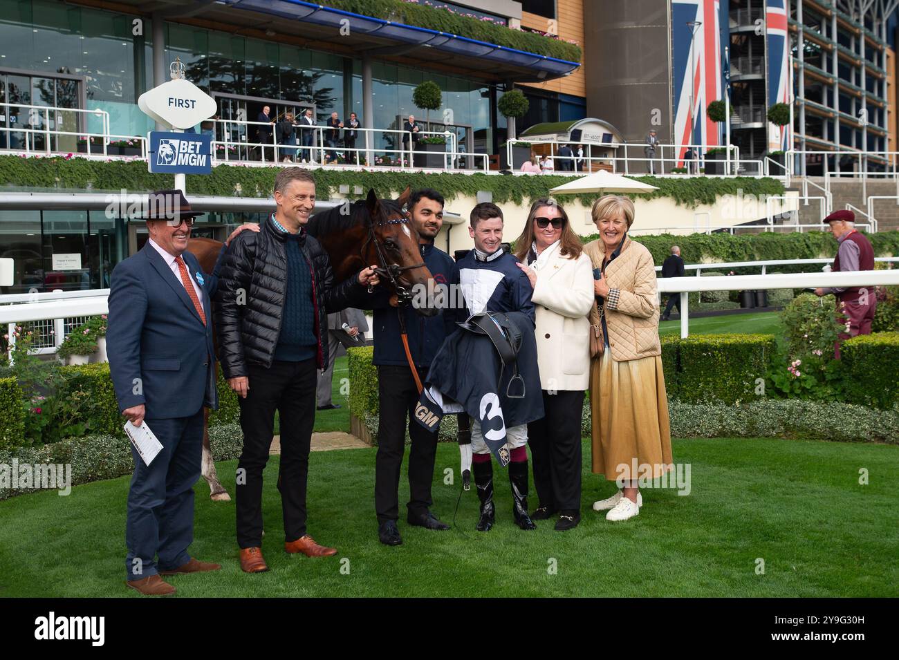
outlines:
[[443, 341], [424, 379], [415, 419], [433, 431], [446, 413], [478, 420], [485, 444], [509, 464], [506, 428], [543, 417], [534, 324], [522, 312], [480, 312]]

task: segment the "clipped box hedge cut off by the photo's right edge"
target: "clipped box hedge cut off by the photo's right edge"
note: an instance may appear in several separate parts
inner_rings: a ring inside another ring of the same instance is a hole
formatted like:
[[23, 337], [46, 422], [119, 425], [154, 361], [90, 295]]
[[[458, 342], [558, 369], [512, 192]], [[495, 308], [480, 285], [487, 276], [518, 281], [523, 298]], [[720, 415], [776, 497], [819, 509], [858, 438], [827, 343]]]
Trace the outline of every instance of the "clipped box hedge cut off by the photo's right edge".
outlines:
[[899, 332], [859, 335], [840, 347], [841, 362], [852, 388], [854, 403], [882, 409], [899, 405]]

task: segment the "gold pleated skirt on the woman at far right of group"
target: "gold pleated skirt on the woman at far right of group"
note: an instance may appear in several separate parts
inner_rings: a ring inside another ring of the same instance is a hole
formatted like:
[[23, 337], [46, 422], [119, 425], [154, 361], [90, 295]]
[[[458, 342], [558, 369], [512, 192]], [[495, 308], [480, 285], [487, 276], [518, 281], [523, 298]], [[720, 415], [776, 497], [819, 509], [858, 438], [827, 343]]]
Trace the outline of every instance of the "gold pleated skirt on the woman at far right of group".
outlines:
[[656, 479], [672, 469], [662, 356], [616, 362], [610, 353], [606, 347], [591, 365], [592, 471], [610, 481], [636, 480], [636, 465]]

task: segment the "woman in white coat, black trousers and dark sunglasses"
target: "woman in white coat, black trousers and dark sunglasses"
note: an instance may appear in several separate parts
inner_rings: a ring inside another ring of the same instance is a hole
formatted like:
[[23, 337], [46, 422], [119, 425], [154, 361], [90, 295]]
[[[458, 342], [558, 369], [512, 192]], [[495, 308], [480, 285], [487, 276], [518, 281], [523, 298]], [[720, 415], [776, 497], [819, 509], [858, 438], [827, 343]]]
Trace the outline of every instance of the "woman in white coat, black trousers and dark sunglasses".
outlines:
[[530, 517], [556, 513], [556, 530], [581, 521], [581, 412], [590, 382], [593, 271], [565, 209], [551, 198], [530, 207], [515, 242], [519, 268], [534, 287], [537, 361], [544, 418], [528, 425], [534, 486], [540, 506]]

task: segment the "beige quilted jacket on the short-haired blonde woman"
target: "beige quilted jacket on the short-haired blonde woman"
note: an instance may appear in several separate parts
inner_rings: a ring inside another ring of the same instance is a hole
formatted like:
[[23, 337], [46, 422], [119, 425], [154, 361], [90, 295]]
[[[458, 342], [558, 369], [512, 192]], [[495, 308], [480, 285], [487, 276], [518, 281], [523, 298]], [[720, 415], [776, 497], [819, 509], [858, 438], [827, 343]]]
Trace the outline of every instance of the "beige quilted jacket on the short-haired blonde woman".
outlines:
[[[587, 243], [583, 251], [593, 268], [602, 268], [602, 239]], [[612, 359], [623, 362], [662, 355], [653, 256], [626, 236], [619, 256], [606, 267], [606, 282], [610, 287], [605, 313]], [[597, 322], [598, 319], [591, 319], [591, 323]]]

